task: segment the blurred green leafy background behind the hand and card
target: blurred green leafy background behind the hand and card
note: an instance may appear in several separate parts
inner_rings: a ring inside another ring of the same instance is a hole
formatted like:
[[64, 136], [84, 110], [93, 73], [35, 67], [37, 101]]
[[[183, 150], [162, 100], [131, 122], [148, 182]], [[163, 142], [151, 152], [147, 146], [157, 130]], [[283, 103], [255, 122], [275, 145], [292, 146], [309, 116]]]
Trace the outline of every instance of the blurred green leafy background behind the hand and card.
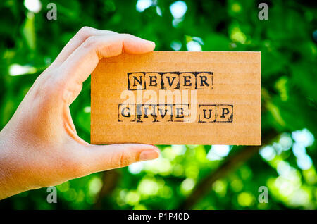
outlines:
[[[261, 51], [262, 131], [271, 157], [256, 149], [240, 163], [237, 155], [249, 147], [230, 146], [228, 156], [210, 161], [206, 155], [212, 154], [211, 146], [159, 146], [162, 156], [152, 163], [58, 185], [57, 204], [48, 204], [46, 189], [38, 189], [4, 199], [0, 208], [178, 209], [186, 207], [184, 201], [193, 192], [200, 197], [191, 209], [317, 208], [316, 5], [266, 1], [269, 19], [259, 20], [261, 1], [185, 0], [187, 11], [177, 21], [170, 13], [174, 1], [154, 1], [143, 12], [136, 10], [137, 1], [41, 2], [39, 13], [28, 11], [23, 1], [0, 2], [0, 128], [36, 77], [87, 25], [153, 40], [157, 51], [173, 51], [175, 46], [187, 51], [191, 41], [203, 51]], [[49, 2], [57, 5], [57, 20], [46, 19]], [[24, 66], [23, 75], [13, 75], [17, 65]], [[87, 80], [71, 106], [78, 135], [87, 142], [89, 106]], [[299, 147], [296, 134], [311, 142]], [[299, 158], [299, 148], [304, 157]], [[220, 167], [229, 158], [237, 159], [224, 173]], [[311, 166], [303, 168], [300, 159]], [[268, 187], [267, 204], [259, 203], [260, 186]]]

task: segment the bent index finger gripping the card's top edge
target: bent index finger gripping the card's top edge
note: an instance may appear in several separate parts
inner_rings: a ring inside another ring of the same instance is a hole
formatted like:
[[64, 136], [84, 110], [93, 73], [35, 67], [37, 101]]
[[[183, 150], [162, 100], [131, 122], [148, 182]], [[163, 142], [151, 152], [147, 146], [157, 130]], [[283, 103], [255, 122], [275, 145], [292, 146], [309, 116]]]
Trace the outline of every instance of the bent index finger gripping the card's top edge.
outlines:
[[88, 37], [61, 65], [63, 79], [82, 83], [101, 58], [118, 56], [123, 51], [129, 54], [147, 53], [154, 47], [154, 42], [127, 34]]

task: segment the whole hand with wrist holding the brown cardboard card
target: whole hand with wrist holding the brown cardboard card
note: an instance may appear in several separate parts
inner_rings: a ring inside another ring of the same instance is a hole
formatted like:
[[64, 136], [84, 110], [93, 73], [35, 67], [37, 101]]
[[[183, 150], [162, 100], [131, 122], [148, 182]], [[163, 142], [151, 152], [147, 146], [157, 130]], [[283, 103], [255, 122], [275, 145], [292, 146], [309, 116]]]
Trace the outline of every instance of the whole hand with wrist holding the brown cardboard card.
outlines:
[[101, 58], [153, 51], [154, 42], [83, 27], [32, 85], [0, 132], [0, 199], [58, 185], [101, 170], [154, 159], [146, 144], [88, 144], [77, 136], [69, 106]]

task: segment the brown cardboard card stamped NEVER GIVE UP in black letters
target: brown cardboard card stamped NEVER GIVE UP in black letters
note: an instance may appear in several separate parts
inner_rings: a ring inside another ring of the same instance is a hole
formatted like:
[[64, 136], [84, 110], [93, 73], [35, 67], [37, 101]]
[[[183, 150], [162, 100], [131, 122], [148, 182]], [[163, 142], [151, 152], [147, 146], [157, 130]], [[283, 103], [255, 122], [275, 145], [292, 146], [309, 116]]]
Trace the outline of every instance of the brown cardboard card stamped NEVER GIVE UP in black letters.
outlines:
[[92, 73], [92, 144], [261, 144], [261, 53], [102, 59]]

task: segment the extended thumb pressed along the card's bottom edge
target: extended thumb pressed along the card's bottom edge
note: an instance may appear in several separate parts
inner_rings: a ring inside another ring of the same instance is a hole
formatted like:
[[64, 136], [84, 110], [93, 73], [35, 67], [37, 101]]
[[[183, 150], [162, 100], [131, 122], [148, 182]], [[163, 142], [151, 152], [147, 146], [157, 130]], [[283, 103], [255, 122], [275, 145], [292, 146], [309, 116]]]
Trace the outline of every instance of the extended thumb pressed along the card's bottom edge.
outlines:
[[129, 166], [138, 161], [158, 158], [159, 149], [148, 144], [109, 144], [85, 146], [85, 171], [87, 174]]

